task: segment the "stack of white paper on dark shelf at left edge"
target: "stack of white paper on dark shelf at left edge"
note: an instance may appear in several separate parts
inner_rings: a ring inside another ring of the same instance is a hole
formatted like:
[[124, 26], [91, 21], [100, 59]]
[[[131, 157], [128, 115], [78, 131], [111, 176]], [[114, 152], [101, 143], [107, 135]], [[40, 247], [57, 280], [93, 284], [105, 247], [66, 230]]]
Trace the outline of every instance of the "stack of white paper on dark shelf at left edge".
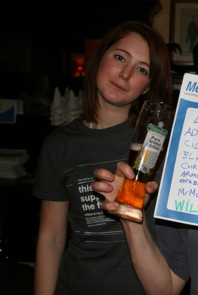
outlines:
[[0, 148], [0, 178], [26, 176], [24, 164], [28, 159], [26, 149]]

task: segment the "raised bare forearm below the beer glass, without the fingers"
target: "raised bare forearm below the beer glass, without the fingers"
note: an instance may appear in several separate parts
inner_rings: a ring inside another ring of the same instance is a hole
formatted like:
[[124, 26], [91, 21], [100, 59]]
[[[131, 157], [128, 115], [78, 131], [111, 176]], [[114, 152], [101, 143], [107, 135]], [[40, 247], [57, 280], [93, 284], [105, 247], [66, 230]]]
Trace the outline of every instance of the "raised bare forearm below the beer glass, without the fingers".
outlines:
[[186, 282], [169, 268], [153, 241], [143, 214], [141, 224], [121, 219], [132, 264], [147, 295], [179, 295]]

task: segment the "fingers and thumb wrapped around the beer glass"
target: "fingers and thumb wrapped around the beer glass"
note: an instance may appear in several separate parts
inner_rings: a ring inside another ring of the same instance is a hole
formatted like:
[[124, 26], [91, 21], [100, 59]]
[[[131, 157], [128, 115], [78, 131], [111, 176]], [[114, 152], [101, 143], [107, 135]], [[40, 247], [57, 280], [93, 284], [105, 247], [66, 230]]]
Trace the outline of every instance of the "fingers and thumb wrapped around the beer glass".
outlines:
[[[102, 208], [108, 211], [112, 211], [118, 207], [118, 203], [115, 202], [117, 193], [122, 185], [124, 177], [129, 179], [134, 178], [134, 172], [128, 164], [119, 162], [115, 175], [106, 169], [96, 169], [94, 172], [95, 177], [100, 181], [92, 182], [91, 187], [105, 197], [105, 201], [102, 203]], [[146, 184], [146, 193], [144, 198], [144, 206], [149, 201], [150, 194], [154, 193], [157, 189], [157, 183], [150, 181]]]

